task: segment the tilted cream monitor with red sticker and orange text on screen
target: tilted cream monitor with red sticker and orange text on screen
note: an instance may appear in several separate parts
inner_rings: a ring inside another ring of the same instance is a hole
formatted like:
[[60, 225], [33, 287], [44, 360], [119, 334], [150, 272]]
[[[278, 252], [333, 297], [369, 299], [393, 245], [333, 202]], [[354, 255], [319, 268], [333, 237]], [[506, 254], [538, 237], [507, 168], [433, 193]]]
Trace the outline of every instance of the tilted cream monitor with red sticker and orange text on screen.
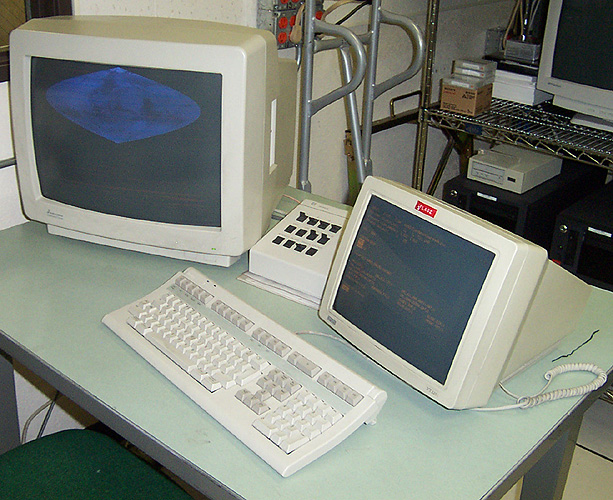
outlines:
[[462, 409], [485, 405], [499, 381], [572, 332], [590, 290], [543, 248], [368, 177], [320, 316], [415, 389]]

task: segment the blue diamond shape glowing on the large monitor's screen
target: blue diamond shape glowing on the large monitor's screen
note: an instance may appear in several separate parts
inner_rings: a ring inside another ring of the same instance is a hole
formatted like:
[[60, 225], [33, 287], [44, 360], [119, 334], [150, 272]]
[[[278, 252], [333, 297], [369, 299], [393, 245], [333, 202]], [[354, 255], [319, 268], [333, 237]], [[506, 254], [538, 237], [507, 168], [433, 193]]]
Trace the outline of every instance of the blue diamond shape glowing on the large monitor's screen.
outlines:
[[198, 104], [166, 85], [122, 68], [69, 78], [47, 90], [64, 117], [117, 144], [183, 128], [200, 116]]

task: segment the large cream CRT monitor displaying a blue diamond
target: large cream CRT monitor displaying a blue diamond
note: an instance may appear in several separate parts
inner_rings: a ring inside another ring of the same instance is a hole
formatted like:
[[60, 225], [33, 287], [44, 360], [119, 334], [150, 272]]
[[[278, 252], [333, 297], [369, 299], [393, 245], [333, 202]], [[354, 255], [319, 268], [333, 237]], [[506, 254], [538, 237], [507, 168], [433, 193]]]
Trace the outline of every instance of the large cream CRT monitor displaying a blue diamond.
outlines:
[[11, 34], [25, 214], [50, 233], [231, 265], [293, 166], [296, 64], [271, 33], [75, 16]]

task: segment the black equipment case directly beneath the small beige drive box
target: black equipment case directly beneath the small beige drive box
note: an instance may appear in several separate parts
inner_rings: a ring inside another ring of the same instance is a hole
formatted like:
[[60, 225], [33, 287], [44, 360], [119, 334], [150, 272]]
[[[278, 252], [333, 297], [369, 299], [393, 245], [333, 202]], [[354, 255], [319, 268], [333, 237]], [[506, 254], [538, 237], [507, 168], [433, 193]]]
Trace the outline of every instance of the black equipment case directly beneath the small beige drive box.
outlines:
[[606, 170], [565, 160], [559, 175], [526, 191], [511, 191], [454, 177], [443, 200], [549, 249], [557, 215], [604, 185]]

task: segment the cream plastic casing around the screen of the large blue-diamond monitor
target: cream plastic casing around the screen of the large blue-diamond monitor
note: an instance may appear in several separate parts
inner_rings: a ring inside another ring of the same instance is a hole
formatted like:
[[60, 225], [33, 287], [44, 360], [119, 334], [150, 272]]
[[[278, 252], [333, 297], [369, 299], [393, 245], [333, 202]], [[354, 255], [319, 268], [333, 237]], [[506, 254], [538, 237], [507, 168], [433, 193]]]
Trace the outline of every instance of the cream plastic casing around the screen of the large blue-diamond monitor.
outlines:
[[[271, 57], [270, 42], [252, 28], [140, 17], [36, 19], [15, 30], [11, 35], [11, 107], [26, 216], [50, 228], [82, 234], [82, 239], [92, 235], [117, 241], [117, 246], [136, 244], [186, 255], [244, 253], [261, 237], [270, 215], [264, 213], [262, 200], [269, 187], [264, 174], [272, 169], [267, 161], [273, 156], [271, 115], [278, 92], [278, 82], [271, 78], [278, 68], [272, 66], [276, 59]], [[31, 133], [33, 57], [222, 75], [221, 227], [127, 219], [44, 198]], [[250, 121], [259, 123], [253, 126]]]

